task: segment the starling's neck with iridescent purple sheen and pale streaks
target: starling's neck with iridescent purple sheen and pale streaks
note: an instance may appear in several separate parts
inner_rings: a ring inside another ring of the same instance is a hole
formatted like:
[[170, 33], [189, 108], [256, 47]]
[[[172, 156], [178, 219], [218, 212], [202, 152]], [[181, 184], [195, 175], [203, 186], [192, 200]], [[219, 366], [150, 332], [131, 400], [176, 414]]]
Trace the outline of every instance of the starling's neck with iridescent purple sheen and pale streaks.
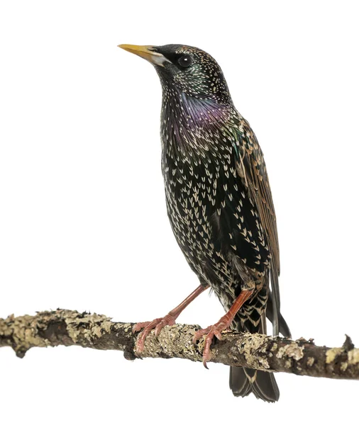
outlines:
[[[189, 96], [175, 89], [162, 94], [162, 147], [186, 156], [203, 154], [219, 142], [228, 120], [236, 115], [230, 101], [219, 103], [213, 98]], [[172, 152], [173, 154], [174, 152]]]

